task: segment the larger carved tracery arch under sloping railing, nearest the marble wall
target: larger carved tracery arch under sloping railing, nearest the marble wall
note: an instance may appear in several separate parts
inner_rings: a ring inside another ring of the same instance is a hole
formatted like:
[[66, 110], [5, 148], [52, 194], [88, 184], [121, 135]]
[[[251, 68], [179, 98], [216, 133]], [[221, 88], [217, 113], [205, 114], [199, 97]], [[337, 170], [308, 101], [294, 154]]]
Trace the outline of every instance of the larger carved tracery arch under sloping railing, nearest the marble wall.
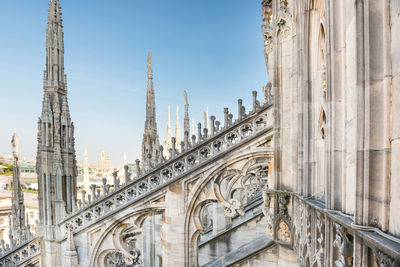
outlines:
[[[230, 160], [228, 165], [222, 165], [219, 170], [212, 170], [212, 174], [203, 173], [196, 179], [195, 184], [188, 191], [189, 211], [187, 211], [187, 238], [190, 244], [189, 255], [191, 264], [198, 265], [198, 244], [202, 236], [223, 229], [224, 224], [229, 227], [231, 218], [244, 215], [245, 207], [250, 203], [259, 203], [263, 190], [268, 187], [268, 166], [272, 154], [262, 149], [256, 157], [245, 157], [240, 160]], [[192, 183], [194, 181], [191, 181]], [[212, 205], [205, 204], [210, 203]], [[209, 206], [209, 208], [207, 207]], [[262, 207], [260, 207], [262, 209]], [[265, 208], [268, 210], [268, 204]], [[266, 210], [266, 212], [267, 212]], [[220, 214], [222, 211], [225, 214]], [[258, 211], [255, 206], [254, 211]], [[217, 213], [218, 212], [218, 213]], [[221, 217], [222, 216], [222, 217]], [[262, 219], [257, 214], [256, 223]], [[235, 218], [234, 220], [240, 220]], [[212, 231], [210, 231], [211, 229]], [[204, 233], [204, 230], [208, 230]], [[273, 228], [271, 227], [271, 233]], [[190, 265], [190, 266], [192, 266]]]

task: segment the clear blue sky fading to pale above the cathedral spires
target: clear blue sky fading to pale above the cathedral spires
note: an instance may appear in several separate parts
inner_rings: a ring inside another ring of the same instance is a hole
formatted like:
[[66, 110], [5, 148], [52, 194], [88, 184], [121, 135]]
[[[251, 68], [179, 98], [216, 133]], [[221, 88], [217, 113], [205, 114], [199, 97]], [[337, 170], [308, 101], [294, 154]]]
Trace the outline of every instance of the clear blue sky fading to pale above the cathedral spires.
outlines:
[[[98, 163], [140, 158], [145, 120], [147, 54], [160, 143], [167, 109], [175, 128], [184, 96], [190, 120], [203, 112], [236, 117], [237, 99], [251, 109], [251, 92], [268, 81], [260, 0], [61, 0], [68, 101], [78, 161], [88, 150]], [[43, 98], [48, 0], [0, 1], [0, 155], [11, 154], [12, 133], [22, 157], [35, 157]], [[173, 130], [174, 132], [174, 130]], [[183, 133], [181, 133], [183, 136]]]

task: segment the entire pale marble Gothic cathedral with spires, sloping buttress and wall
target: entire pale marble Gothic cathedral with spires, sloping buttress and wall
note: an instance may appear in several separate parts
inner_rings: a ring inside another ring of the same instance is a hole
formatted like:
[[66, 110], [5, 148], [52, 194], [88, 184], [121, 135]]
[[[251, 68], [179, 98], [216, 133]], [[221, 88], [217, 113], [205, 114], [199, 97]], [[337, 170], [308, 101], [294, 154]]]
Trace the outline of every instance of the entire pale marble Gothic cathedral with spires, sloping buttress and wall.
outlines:
[[190, 136], [185, 93], [184, 137], [163, 142], [166, 152], [150, 53], [141, 161], [123, 182], [115, 173], [78, 194], [61, 9], [50, 0], [40, 224], [32, 235], [13, 219], [0, 266], [400, 266], [399, 2], [260, 5], [262, 96], [207, 115]]

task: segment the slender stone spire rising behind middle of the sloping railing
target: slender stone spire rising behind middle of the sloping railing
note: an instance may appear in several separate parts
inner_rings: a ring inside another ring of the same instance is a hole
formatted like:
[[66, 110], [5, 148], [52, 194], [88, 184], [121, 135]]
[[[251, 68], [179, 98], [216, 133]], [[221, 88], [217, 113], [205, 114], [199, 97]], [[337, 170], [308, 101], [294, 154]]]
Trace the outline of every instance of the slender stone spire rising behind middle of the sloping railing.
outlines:
[[156, 123], [156, 101], [153, 87], [153, 69], [151, 65], [151, 52], [147, 57], [147, 96], [146, 96], [146, 121], [142, 141], [142, 166], [149, 169], [158, 162], [159, 140]]

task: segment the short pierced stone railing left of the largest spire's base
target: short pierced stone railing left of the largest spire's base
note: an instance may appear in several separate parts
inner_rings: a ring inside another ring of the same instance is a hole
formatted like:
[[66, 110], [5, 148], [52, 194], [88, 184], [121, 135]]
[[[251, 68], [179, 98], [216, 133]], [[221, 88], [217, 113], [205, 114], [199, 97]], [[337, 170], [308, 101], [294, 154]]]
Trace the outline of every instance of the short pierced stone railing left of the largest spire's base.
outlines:
[[40, 240], [33, 238], [13, 248], [4, 248], [0, 256], [0, 267], [19, 266], [40, 254]]

